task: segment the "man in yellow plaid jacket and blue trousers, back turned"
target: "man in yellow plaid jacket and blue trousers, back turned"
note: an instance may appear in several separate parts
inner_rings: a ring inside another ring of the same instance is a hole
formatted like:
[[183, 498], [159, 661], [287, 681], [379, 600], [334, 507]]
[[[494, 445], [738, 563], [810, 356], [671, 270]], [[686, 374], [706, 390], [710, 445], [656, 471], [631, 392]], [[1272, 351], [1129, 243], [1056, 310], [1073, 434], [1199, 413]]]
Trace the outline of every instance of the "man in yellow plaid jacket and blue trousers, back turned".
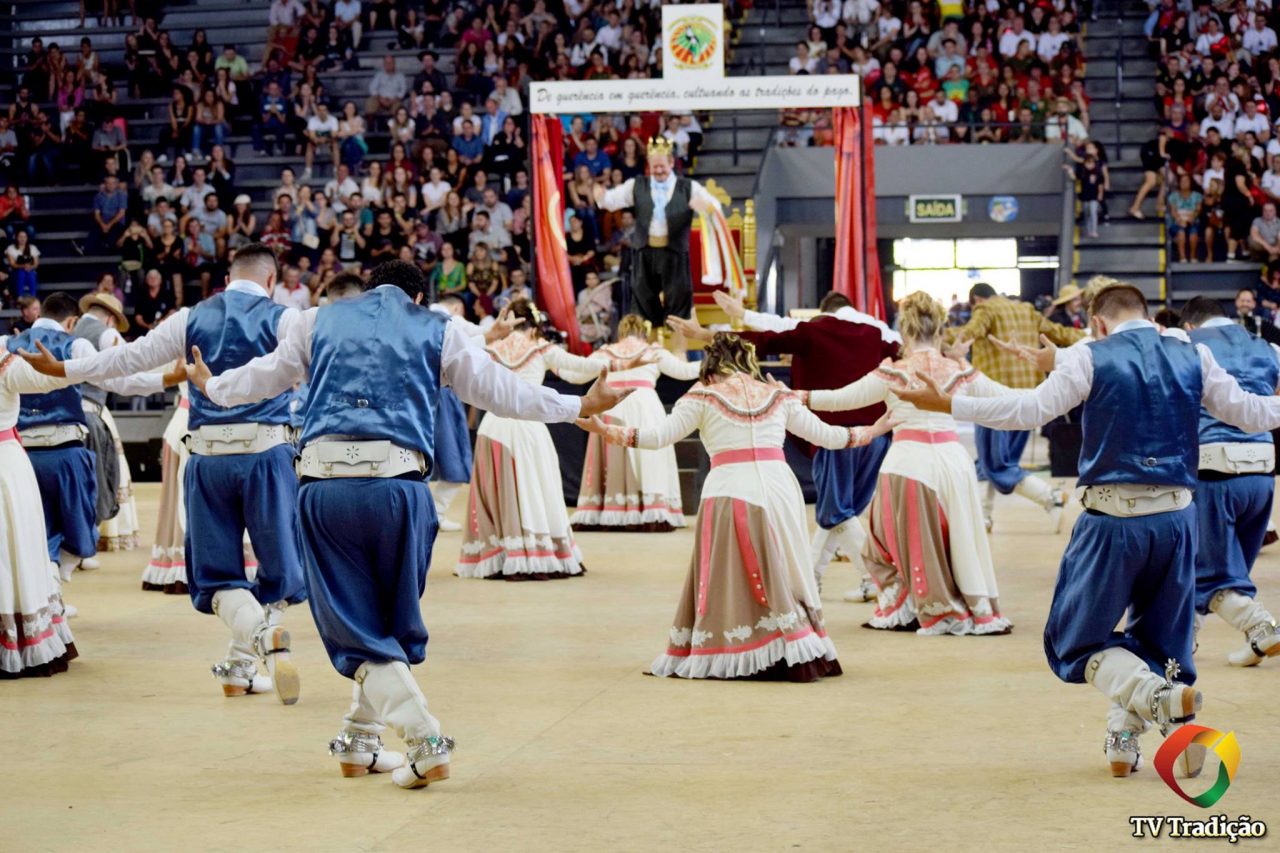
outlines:
[[[1059, 346], [1069, 346], [1084, 337], [1084, 329], [1069, 329], [1050, 323], [1034, 306], [1006, 298], [996, 293], [991, 284], [980, 282], [974, 284], [969, 291], [969, 304], [973, 306], [973, 315], [964, 325], [948, 329], [947, 341], [972, 341], [973, 365], [1010, 388], [1034, 388], [1043, 382], [1044, 374], [1012, 352], [1001, 350], [988, 341], [987, 336], [1024, 346], [1037, 346], [1042, 334]], [[1030, 433], [1027, 430], [987, 429], [980, 424], [974, 429], [974, 442], [978, 446], [978, 478], [987, 480], [982, 512], [988, 532], [996, 492], [1020, 494], [1039, 505], [1050, 514], [1055, 533], [1062, 524], [1065, 505], [1062, 493], [1023, 470], [1023, 450], [1029, 437]]]

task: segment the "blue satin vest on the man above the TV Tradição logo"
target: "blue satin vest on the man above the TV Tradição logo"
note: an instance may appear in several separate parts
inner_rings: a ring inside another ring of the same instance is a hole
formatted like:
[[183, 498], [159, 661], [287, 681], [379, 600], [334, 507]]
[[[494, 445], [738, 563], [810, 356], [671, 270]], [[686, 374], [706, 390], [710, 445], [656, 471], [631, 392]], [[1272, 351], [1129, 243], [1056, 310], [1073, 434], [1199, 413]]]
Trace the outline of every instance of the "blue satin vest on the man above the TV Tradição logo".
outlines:
[[1194, 488], [1202, 386], [1196, 347], [1149, 327], [1085, 346], [1093, 388], [1080, 419], [1079, 482]]

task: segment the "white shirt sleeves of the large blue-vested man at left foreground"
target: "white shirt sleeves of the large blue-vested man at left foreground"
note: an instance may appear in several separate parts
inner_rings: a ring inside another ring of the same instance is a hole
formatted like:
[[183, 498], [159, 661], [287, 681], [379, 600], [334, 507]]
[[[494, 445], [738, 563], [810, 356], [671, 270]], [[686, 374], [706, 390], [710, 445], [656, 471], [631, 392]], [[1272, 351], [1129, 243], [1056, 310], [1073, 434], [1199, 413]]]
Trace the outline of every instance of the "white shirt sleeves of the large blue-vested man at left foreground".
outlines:
[[[306, 382], [311, 373], [311, 336], [319, 310], [303, 313], [282, 337], [275, 352], [210, 379], [205, 394], [219, 406], [238, 406], [274, 397], [294, 383]], [[567, 423], [575, 420], [582, 407], [580, 397], [521, 382], [452, 321], [444, 327], [440, 384], [452, 388], [462, 402], [502, 418]]]

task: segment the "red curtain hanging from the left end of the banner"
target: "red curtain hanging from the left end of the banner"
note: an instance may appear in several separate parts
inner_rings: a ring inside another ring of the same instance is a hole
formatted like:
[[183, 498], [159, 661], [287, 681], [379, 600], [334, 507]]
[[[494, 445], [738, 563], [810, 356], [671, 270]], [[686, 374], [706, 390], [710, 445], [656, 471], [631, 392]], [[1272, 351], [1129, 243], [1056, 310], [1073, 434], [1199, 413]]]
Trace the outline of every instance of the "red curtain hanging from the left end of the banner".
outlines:
[[568, 333], [568, 348], [585, 355], [577, 334], [573, 282], [564, 243], [564, 128], [554, 115], [532, 117], [534, 263], [538, 301], [556, 328]]

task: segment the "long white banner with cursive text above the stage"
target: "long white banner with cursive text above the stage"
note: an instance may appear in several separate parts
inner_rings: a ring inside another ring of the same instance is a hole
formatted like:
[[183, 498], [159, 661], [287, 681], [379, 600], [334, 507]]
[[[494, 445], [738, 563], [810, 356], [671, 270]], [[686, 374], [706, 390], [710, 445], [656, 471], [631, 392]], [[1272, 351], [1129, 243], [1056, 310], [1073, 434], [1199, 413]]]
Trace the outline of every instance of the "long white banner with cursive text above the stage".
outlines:
[[860, 92], [856, 74], [553, 81], [530, 85], [529, 109], [535, 114], [829, 109], [858, 106]]

